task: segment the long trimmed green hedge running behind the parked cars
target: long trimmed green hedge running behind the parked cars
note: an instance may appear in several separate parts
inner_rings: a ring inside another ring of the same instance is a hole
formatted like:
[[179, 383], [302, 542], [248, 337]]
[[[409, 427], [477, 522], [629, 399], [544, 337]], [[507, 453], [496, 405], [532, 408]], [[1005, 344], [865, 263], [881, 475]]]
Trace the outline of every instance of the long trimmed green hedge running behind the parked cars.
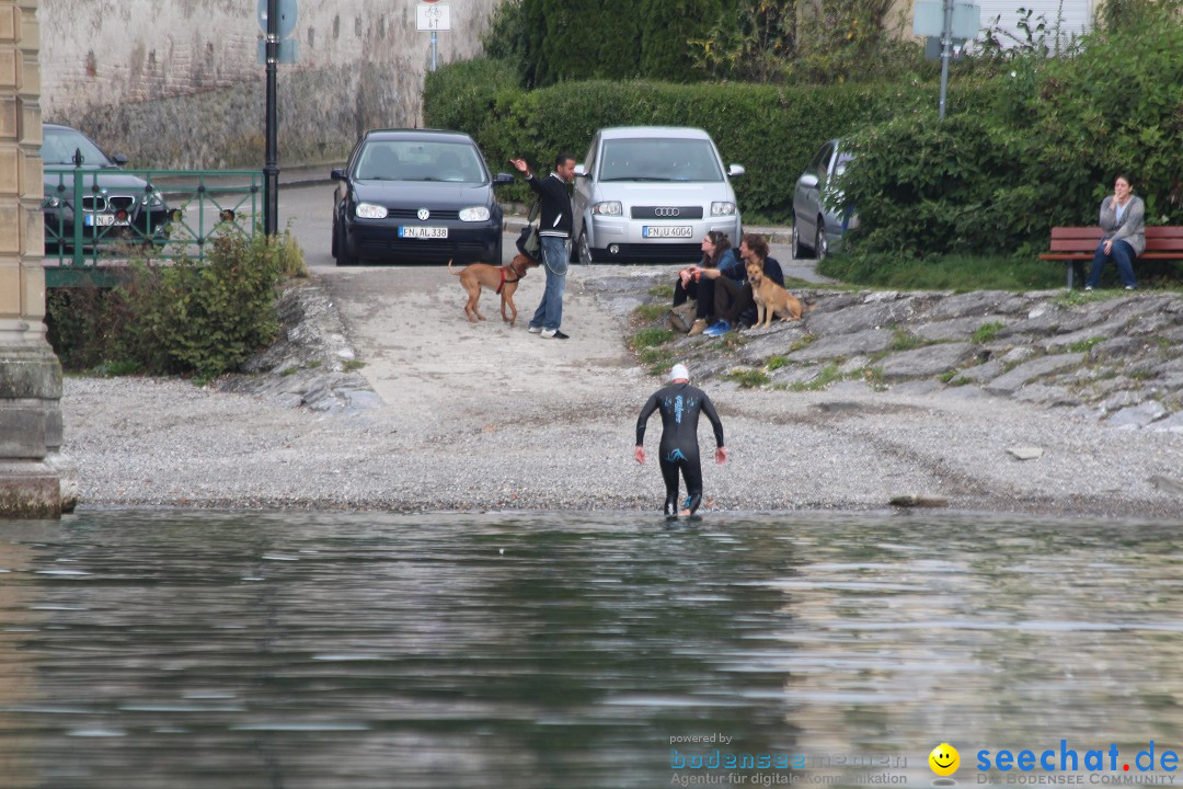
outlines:
[[[771, 221], [791, 218], [793, 187], [817, 148], [867, 123], [899, 112], [936, 108], [929, 83], [777, 86], [590, 80], [525, 91], [498, 62], [470, 60], [427, 78], [428, 127], [471, 134], [494, 170], [510, 156], [549, 166], [558, 150], [583, 161], [596, 129], [613, 125], [691, 125], [706, 129], [726, 163], [743, 164], [735, 179], [741, 211]], [[980, 111], [993, 99], [984, 83], [951, 90], [951, 114]], [[518, 185], [503, 199], [526, 201]]]

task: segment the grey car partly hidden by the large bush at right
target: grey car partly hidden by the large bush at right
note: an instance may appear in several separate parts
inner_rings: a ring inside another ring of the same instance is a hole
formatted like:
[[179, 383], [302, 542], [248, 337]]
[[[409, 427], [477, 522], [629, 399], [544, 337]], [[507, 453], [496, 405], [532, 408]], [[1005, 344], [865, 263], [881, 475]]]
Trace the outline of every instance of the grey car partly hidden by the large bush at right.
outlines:
[[858, 215], [841, 205], [835, 180], [852, 155], [840, 140], [830, 140], [809, 161], [793, 190], [793, 257], [825, 258], [836, 252], [842, 234], [859, 224]]

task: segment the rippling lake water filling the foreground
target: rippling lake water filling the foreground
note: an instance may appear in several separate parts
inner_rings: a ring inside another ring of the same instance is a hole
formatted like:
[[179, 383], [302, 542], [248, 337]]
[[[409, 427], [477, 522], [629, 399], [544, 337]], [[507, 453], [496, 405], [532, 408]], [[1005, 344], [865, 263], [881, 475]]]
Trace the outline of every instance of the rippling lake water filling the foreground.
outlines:
[[976, 785], [1116, 745], [1098, 785], [1183, 751], [1181, 525], [0, 522], [0, 787], [926, 787], [944, 742]]

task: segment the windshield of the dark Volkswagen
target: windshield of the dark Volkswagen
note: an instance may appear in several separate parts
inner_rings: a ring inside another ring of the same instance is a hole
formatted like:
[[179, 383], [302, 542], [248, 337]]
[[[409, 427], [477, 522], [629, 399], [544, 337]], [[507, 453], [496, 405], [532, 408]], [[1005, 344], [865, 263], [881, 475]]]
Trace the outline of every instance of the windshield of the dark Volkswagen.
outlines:
[[370, 181], [453, 181], [485, 183], [489, 175], [467, 143], [375, 140], [367, 143], [354, 170]]

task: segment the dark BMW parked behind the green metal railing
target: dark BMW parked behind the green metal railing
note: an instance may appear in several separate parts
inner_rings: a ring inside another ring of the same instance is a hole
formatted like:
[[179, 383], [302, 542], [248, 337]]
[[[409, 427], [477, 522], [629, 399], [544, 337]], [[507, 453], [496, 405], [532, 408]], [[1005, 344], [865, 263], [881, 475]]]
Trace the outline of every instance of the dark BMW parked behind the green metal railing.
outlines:
[[[95, 239], [161, 242], [166, 240], [169, 208], [164, 198], [137, 175], [124, 173], [127, 156], [108, 156], [86, 135], [57, 123], [41, 124], [45, 166], [45, 244], [71, 246], [75, 219], [88, 244]], [[82, 185], [78, 212], [75, 174]]]

